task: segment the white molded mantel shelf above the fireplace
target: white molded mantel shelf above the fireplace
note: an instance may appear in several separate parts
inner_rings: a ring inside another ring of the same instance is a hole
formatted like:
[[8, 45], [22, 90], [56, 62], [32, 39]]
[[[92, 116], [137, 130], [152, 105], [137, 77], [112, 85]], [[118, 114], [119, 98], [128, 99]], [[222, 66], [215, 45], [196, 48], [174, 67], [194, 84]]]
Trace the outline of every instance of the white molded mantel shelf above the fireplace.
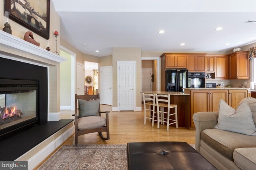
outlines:
[[56, 55], [50, 51], [47, 51], [46, 49], [43, 49], [27, 41], [24, 41], [23, 39], [8, 34], [2, 30], [0, 30], [0, 47], [1, 46], [8, 47], [15, 51], [22, 51], [29, 55], [36, 55], [37, 57], [41, 57], [43, 59], [47, 59], [57, 63], [62, 63], [63, 61], [66, 61], [65, 58], [60, 57], [59, 55]]

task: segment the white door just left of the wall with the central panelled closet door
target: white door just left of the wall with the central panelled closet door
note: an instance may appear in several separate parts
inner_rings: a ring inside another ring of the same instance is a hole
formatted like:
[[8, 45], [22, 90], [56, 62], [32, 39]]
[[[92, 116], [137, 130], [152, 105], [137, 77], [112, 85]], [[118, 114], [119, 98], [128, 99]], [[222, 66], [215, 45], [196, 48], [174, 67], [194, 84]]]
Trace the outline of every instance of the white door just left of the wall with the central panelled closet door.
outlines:
[[101, 104], [112, 105], [112, 66], [100, 67]]

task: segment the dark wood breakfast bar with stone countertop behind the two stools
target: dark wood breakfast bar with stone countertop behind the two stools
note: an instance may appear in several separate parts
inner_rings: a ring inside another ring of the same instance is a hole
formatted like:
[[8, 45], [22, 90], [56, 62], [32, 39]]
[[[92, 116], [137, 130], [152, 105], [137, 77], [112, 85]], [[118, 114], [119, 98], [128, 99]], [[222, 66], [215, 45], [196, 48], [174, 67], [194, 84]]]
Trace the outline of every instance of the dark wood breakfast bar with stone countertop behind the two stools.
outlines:
[[[182, 92], [164, 92], [164, 91], [150, 91], [140, 92], [149, 94], [170, 94], [170, 103], [177, 105], [178, 127], [186, 127], [190, 129], [190, 94]], [[172, 108], [171, 113], [174, 113]], [[166, 126], [166, 125], [165, 125]], [[171, 125], [175, 127], [175, 124]]]

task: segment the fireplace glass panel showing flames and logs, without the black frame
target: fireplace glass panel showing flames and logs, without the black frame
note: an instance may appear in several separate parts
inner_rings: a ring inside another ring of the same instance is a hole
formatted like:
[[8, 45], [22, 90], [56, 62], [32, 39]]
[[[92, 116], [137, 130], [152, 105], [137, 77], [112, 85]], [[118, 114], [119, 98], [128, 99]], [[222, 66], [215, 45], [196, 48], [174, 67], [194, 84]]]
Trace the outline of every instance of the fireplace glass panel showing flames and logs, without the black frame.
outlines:
[[0, 130], [36, 117], [36, 95], [37, 90], [0, 92]]

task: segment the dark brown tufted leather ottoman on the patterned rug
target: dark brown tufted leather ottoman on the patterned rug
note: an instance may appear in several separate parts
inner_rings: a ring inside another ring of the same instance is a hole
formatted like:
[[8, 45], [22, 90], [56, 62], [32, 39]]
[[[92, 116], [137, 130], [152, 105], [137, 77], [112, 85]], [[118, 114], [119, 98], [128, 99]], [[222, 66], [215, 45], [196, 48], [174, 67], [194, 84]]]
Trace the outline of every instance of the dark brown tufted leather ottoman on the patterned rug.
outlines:
[[129, 170], [216, 170], [186, 142], [127, 143]]

